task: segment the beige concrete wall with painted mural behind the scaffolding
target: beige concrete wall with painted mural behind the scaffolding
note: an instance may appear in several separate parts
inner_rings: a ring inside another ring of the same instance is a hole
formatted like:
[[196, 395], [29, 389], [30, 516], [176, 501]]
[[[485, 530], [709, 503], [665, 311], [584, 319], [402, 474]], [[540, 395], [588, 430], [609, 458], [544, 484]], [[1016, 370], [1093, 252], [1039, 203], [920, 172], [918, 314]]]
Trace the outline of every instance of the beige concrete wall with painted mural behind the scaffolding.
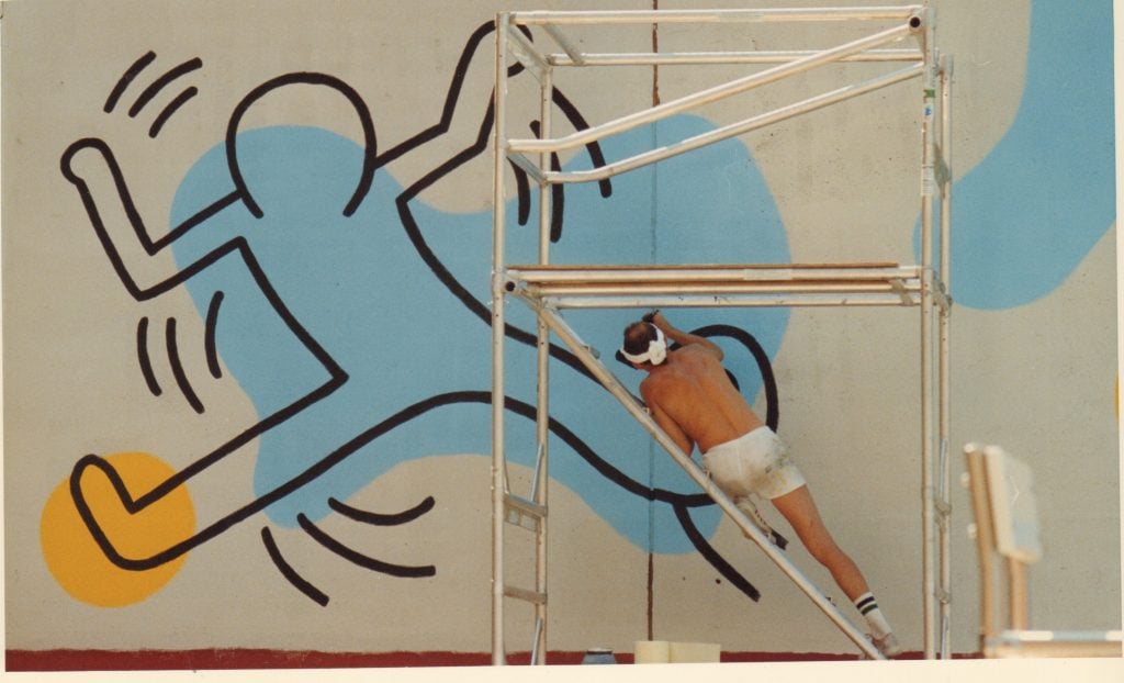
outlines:
[[[1026, 459], [1046, 552], [1033, 622], [1118, 628], [1112, 7], [934, 6], [955, 57], [953, 470], [970, 440]], [[501, 9], [579, 7], [3, 6], [9, 650], [489, 649], [489, 471], [478, 453], [490, 443], [491, 176], [474, 143], [490, 125], [493, 53], [482, 27]], [[762, 50], [854, 35], [834, 24], [741, 29]], [[658, 37], [663, 48], [744, 44], [718, 27]], [[643, 51], [653, 36], [583, 39]], [[771, 86], [602, 151], [611, 160], [711, 129], [860, 69]], [[619, 69], [558, 84], [571, 118], [597, 123], [732, 73]], [[531, 82], [516, 79], [526, 109], [509, 122], [528, 136]], [[608, 196], [569, 187], [555, 258], [915, 262], [919, 110], [916, 87], [899, 86], [619, 177]], [[364, 194], [368, 113], [378, 170]], [[261, 216], [238, 200], [230, 150]], [[513, 190], [513, 224], [517, 206]], [[511, 231], [527, 249], [533, 228]], [[606, 353], [632, 315], [572, 322]], [[723, 326], [732, 371], [762, 413], [762, 372], [735, 332], [765, 350], [781, 435], [903, 644], [919, 650], [916, 312], [670, 315]], [[509, 347], [511, 395], [531, 402], [532, 352]], [[694, 485], [602, 390], [563, 363], [553, 377], [552, 412], [573, 438], [553, 446], [552, 649], [631, 651], [654, 637], [854, 651], [715, 506], [683, 504]], [[526, 465], [531, 422], [509, 420]], [[127, 514], [111, 474], [152, 504]], [[516, 485], [526, 478], [513, 470]], [[959, 487], [953, 505], [952, 644], [972, 653], [976, 555]], [[106, 548], [148, 561], [123, 568]], [[803, 548], [789, 556], [837, 593]], [[511, 612], [529, 644], [524, 611]], [[513, 635], [509, 647], [526, 646]]]

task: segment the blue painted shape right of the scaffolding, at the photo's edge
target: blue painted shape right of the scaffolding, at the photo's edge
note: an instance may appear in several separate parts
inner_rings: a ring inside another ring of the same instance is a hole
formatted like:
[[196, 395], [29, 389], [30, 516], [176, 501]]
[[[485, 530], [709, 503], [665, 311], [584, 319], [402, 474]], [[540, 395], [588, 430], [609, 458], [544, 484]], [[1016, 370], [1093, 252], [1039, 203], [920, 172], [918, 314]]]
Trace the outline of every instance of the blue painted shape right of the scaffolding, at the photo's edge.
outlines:
[[1112, 10], [1034, 2], [1018, 114], [953, 187], [958, 303], [999, 309], [1050, 294], [1114, 223]]

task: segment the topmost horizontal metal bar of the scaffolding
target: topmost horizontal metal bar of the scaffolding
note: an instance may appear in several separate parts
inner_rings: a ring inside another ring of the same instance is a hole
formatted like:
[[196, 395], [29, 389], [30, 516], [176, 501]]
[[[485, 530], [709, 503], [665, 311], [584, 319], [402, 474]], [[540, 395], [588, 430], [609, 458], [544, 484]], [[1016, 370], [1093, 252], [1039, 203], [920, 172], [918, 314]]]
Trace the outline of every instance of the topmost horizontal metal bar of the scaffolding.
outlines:
[[637, 10], [637, 11], [526, 11], [511, 12], [520, 26], [577, 24], [711, 24], [767, 21], [846, 21], [908, 19], [922, 11], [919, 5], [899, 7], [831, 7], [781, 9]]

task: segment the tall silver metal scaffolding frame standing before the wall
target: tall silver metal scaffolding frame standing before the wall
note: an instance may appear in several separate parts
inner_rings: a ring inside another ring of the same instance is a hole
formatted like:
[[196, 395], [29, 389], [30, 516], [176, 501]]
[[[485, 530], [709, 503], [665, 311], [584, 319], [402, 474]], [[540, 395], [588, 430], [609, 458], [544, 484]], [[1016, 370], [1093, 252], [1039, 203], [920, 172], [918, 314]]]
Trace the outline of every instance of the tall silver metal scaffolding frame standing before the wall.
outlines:
[[[826, 50], [744, 52], [583, 52], [566, 30], [587, 25], [661, 25], [711, 23], [833, 21], [889, 25], [858, 39]], [[546, 519], [549, 482], [550, 335], [553, 333], [616, 397], [656, 442], [674, 458], [742, 531], [831, 619], [867, 656], [881, 658], [863, 632], [813, 585], [800, 570], [723, 494], [690, 458], [660, 429], [637, 399], [598, 359], [597, 353], [562, 318], [564, 308], [632, 307], [754, 307], [754, 306], [913, 306], [921, 318], [921, 451], [922, 451], [922, 573], [924, 650], [927, 658], [950, 656], [951, 564], [949, 559], [949, 244], [951, 217], [952, 62], [936, 50], [934, 12], [924, 5], [877, 8], [719, 9], [653, 11], [528, 11], [497, 16], [496, 136], [493, 158], [492, 308], [492, 663], [506, 664], [505, 600], [531, 602], [535, 612], [532, 663], [546, 655]], [[534, 43], [525, 32], [534, 27], [549, 39]], [[886, 48], [912, 39], [916, 47]], [[561, 52], [546, 52], [544, 46]], [[540, 84], [541, 125], [537, 138], [510, 137], [507, 129], [507, 61], [516, 59]], [[781, 79], [837, 62], [901, 62], [906, 65], [859, 83], [758, 114], [635, 156], [591, 170], [552, 168], [551, 155], [572, 150], [637, 126], [694, 110]], [[674, 100], [622, 116], [569, 135], [554, 137], [551, 126], [553, 72], [560, 68], [660, 64], [768, 65], [762, 71]], [[783, 263], [605, 266], [552, 264], [550, 260], [551, 188], [589, 182], [638, 169], [879, 90], [919, 79], [922, 83], [921, 263]], [[510, 161], [538, 185], [540, 240], [537, 262], [506, 260], [505, 172]], [[934, 254], [934, 213], [940, 195], [939, 240]], [[934, 258], [935, 255], [935, 258]], [[510, 492], [505, 452], [506, 299], [516, 298], [537, 320], [537, 457], [529, 497]], [[516, 587], [505, 578], [505, 525], [514, 523], [535, 534], [535, 585]]]

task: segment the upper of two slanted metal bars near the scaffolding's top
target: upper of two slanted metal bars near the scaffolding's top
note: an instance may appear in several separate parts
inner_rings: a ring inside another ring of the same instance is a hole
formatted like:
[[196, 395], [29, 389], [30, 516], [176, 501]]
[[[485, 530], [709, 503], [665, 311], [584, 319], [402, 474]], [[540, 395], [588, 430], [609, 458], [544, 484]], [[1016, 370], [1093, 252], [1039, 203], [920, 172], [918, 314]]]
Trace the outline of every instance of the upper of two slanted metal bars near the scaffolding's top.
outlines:
[[597, 142], [602, 137], [608, 137], [645, 124], [662, 120], [695, 107], [700, 107], [746, 90], [752, 90], [753, 88], [759, 88], [761, 86], [779, 81], [796, 73], [809, 71], [823, 64], [836, 62], [843, 57], [859, 54], [880, 45], [901, 41], [903, 38], [909, 36], [913, 32], [914, 29], [908, 25], [904, 24], [901, 26], [896, 26], [863, 38], [859, 38], [858, 41], [852, 41], [836, 47], [815, 52], [806, 57], [773, 66], [772, 69], [767, 69], [764, 71], [733, 80], [728, 83], [707, 88], [705, 90], [700, 90], [699, 92], [670, 100], [662, 105], [658, 105], [642, 111], [636, 111], [615, 120], [571, 133], [564, 137], [509, 140], [508, 150], [513, 152], [544, 153], [580, 147]]

